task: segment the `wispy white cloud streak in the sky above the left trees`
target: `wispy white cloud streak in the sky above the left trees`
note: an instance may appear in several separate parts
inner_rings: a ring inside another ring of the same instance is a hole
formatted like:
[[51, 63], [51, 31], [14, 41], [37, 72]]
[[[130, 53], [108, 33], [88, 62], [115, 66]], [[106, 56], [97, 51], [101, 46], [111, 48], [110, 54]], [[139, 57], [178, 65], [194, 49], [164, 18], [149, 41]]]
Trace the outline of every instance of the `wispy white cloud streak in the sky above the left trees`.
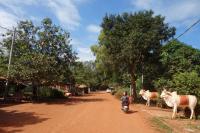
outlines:
[[86, 0], [2, 0], [0, 5], [4, 12], [22, 19], [37, 19], [31, 16], [27, 11], [27, 6], [37, 6], [49, 11], [55, 15], [59, 23], [68, 29], [74, 29], [80, 25], [80, 14], [76, 4], [83, 3]]

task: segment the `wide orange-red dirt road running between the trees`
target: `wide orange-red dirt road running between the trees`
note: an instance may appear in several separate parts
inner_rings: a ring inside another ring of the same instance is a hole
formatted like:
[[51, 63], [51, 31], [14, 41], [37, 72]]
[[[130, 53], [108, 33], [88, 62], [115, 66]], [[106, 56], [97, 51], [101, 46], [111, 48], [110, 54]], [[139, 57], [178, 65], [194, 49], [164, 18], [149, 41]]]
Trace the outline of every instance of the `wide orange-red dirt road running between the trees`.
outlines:
[[0, 108], [0, 132], [15, 133], [155, 133], [134, 106], [128, 114], [105, 92], [71, 100], [26, 103]]

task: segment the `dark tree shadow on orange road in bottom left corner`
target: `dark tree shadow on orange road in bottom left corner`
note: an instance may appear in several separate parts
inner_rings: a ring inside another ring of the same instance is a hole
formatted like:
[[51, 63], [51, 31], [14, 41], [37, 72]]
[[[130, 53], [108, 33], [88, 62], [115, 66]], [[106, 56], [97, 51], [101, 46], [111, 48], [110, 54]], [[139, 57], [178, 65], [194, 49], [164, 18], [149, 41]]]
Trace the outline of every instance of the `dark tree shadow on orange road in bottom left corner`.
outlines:
[[[34, 112], [18, 112], [14, 111], [5, 111], [0, 110], [0, 132], [5, 133], [14, 133], [21, 131], [20, 127], [26, 125], [33, 125], [37, 123], [41, 123], [48, 118], [40, 118], [36, 116]], [[12, 131], [7, 131], [7, 128], [16, 128]]]

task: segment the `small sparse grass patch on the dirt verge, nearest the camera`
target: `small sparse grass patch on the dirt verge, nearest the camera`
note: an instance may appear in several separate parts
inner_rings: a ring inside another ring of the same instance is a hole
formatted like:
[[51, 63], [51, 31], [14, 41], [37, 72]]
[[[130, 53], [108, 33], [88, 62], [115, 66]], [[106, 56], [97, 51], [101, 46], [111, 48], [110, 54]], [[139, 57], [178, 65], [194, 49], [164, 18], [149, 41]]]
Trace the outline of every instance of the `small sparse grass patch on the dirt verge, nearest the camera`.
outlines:
[[164, 120], [162, 120], [159, 117], [151, 118], [151, 123], [153, 124], [153, 126], [155, 126], [158, 129], [158, 131], [160, 131], [162, 133], [172, 133], [173, 132], [173, 129], [171, 127], [169, 127], [168, 125], [166, 125]]

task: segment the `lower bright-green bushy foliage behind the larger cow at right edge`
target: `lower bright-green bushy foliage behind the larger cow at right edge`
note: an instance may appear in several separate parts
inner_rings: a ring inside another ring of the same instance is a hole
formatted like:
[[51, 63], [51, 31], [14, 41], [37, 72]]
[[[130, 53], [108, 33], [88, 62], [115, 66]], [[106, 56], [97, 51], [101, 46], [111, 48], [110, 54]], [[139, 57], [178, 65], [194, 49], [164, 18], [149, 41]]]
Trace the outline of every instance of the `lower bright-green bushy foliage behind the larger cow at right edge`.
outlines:
[[163, 46], [161, 57], [163, 72], [154, 86], [200, 97], [200, 50], [175, 40]]

